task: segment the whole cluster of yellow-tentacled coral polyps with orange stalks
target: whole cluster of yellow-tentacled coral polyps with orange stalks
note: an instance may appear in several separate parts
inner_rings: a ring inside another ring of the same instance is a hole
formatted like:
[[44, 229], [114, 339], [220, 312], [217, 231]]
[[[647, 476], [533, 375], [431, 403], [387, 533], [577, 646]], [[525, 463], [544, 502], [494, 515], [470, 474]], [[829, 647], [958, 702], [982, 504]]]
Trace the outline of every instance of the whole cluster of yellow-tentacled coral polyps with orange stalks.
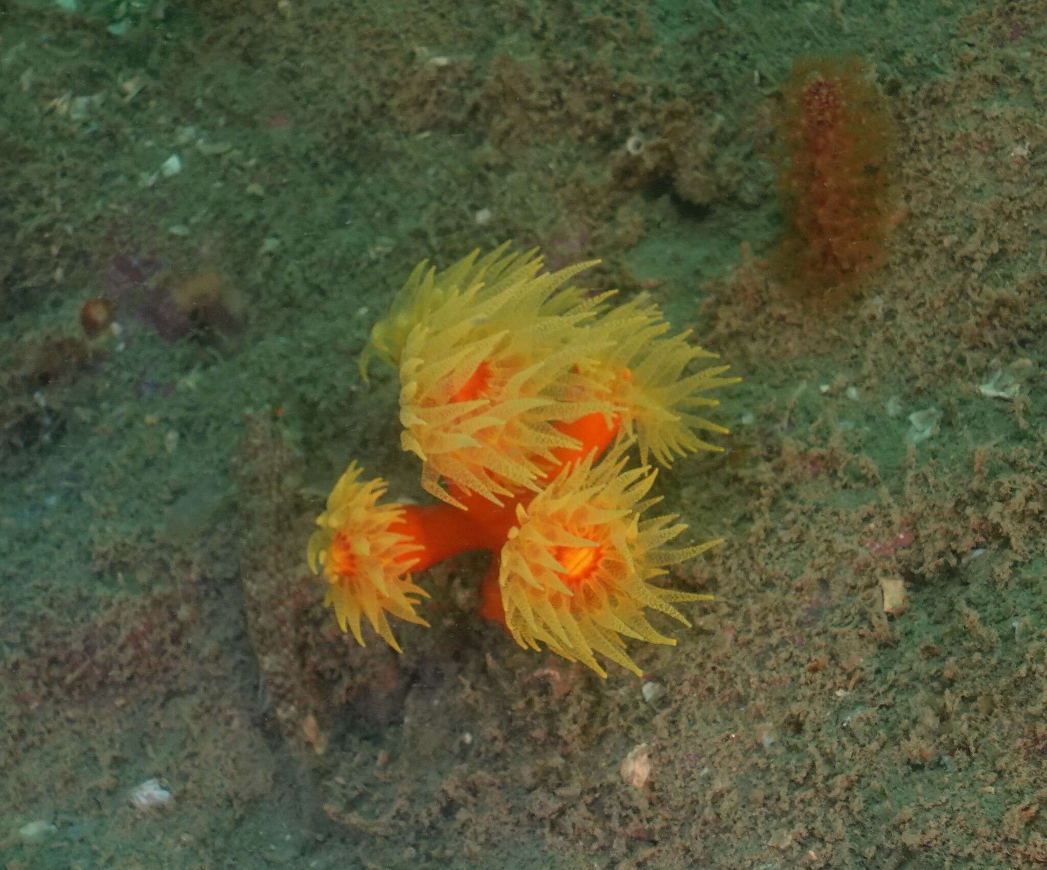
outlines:
[[486, 550], [483, 616], [525, 648], [601, 676], [597, 654], [640, 674], [624, 639], [675, 643], [645, 610], [689, 625], [673, 605], [710, 598], [651, 581], [718, 543], [666, 546], [686, 527], [644, 516], [660, 500], [647, 497], [648, 458], [667, 466], [719, 449], [699, 433], [727, 429], [695, 410], [738, 379], [726, 365], [695, 371], [715, 354], [668, 336], [649, 299], [611, 306], [611, 293], [564, 286], [595, 263], [550, 273], [536, 250], [508, 248], [439, 272], [419, 264], [360, 359], [364, 377], [376, 356], [399, 371], [401, 443], [439, 500], [383, 503], [385, 483], [353, 463], [316, 520], [309, 562], [343, 631], [362, 644], [366, 617], [399, 651], [386, 615], [427, 625], [411, 574]]

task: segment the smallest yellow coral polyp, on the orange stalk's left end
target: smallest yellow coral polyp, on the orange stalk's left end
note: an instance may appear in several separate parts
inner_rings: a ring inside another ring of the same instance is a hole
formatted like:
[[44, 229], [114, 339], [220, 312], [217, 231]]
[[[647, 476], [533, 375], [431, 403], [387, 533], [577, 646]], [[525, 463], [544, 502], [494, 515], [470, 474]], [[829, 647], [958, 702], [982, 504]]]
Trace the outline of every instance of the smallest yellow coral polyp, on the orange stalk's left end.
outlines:
[[416, 596], [427, 597], [410, 579], [413, 554], [419, 544], [392, 531], [403, 511], [395, 505], [379, 505], [385, 483], [377, 477], [359, 483], [362, 469], [354, 462], [328, 497], [327, 510], [316, 519], [319, 527], [309, 539], [309, 566], [322, 571], [328, 581], [325, 605], [333, 607], [342, 631], [347, 626], [361, 646], [360, 618], [400, 652], [386, 614], [428, 626], [415, 612]]

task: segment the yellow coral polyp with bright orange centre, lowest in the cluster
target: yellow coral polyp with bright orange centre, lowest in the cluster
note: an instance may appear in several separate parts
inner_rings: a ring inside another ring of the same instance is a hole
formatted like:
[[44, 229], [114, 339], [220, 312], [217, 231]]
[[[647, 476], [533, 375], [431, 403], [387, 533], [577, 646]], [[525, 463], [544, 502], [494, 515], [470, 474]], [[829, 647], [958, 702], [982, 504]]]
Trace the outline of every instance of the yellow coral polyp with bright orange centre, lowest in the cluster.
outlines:
[[606, 671], [597, 653], [642, 675], [624, 638], [676, 643], [660, 633], [644, 610], [660, 610], [689, 627], [673, 604], [712, 596], [650, 581], [666, 573], [665, 565], [720, 542], [664, 546], [687, 527], [675, 522], [674, 514], [641, 519], [660, 500], [642, 501], [656, 472], [625, 471], [628, 446], [622, 440], [598, 464], [591, 453], [569, 465], [529, 506], [517, 505], [517, 526], [502, 550], [498, 574], [506, 627], [516, 642], [535, 650], [544, 644], [602, 677]]

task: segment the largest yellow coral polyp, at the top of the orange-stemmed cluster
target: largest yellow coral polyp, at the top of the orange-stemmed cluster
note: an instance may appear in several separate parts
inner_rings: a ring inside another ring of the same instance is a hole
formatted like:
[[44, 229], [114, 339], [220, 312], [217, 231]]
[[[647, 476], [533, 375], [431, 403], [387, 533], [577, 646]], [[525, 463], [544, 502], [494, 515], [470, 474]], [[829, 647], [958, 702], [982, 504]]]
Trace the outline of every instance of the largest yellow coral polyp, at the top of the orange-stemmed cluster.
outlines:
[[[423, 487], [459, 507], [445, 484], [496, 505], [537, 491], [543, 469], [555, 463], [552, 451], [581, 446], [555, 424], [614, 412], [606, 399], [576, 388], [579, 373], [607, 343], [585, 328], [603, 297], [582, 299], [573, 288], [559, 289], [593, 264], [549, 273], [534, 251], [504, 260], [481, 261], [490, 283], [460, 264], [421, 287], [441, 303], [404, 308], [407, 319], [419, 310], [427, 316], [395, 355], [401, 444], [422, 460]], [[462, 285], [445, 286], [451, 281]]]

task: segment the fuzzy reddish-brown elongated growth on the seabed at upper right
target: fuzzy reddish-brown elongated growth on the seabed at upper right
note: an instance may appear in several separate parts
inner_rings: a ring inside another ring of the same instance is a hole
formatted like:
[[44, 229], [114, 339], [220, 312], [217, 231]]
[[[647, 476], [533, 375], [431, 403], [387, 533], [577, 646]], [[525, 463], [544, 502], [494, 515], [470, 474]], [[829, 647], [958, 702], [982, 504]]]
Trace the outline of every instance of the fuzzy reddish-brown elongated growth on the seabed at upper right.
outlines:
[[801, 60], [778, 117], [786, 228], [773, 262], [811, 302], [834, 302], [884, 260], [898, 222], [895, 128], [855, 60]]

